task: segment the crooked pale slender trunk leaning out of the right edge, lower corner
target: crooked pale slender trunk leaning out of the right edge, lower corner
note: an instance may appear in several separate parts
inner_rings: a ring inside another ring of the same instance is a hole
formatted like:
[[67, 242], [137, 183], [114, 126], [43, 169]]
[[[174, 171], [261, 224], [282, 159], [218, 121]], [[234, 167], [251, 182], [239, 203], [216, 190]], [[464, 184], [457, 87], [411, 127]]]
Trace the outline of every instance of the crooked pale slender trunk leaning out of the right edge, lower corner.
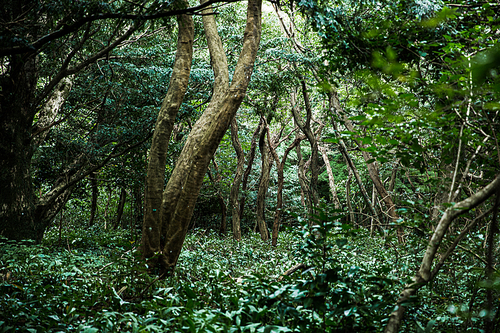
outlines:
[[415, 295], [417, 290], [429, 283], [433, 277], [436, 276], [437, 271], [431, 271], [432, 263], [436, 257], [437, 250], [443, 241], [443, 238], [448, 230], [451, 222], [459, 215], [465, 214], [471, 209], [479, 206], [489, 197], [491, 197], [500, 188], [500, 175], [485, 186], [480, 191], [471, 195], [467, 199], [449, 207], [444, 212], [443, 216], [439, 220], [439, 223], [432, 234], [432, 237], [427, 245], [424, 257], [422, 258], [422, 263], [417, 274], [412, 278], [412, 283], [405, 287], [398, 299], [397, 309], [391, 313], [389, 322], [385, 328], [385, 333], [396, 333], [399, 330], [401, 322], [403, 320], [403, 315], [406, 309], [404, 305], [408, 302], [410, 297]]

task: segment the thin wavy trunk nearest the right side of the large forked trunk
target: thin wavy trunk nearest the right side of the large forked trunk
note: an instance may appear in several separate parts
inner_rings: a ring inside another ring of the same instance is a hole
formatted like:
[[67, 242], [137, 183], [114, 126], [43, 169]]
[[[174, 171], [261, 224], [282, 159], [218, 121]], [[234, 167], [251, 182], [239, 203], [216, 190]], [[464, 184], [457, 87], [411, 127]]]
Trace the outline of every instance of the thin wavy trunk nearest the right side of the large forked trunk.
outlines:
[[240, 140], [238, 139], [238, 123], [236, 118], [231, 122], [231, 142], [237, 156], [236, 173], [234, 174], [233, 183], [231, 184], [231, 193], [229, 195], [229, 208], [231, 209], [233, 238], [241, 240], [241, 220], [240, 220], [240, 203], [238, 195], [240, 192], [241, 178], [243, 176], [243, 167], [245, 164], [245, 155], [241, 148]]

